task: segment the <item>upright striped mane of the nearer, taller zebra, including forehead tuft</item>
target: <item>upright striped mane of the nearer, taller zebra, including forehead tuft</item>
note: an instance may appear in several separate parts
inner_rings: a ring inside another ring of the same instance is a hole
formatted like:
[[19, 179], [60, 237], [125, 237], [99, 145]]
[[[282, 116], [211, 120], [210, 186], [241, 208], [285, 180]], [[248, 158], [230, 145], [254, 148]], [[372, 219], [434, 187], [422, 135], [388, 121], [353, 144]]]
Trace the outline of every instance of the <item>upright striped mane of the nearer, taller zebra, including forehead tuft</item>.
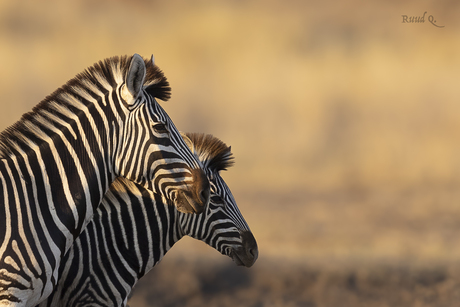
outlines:
[[[33, 129], [31, 127], [42, 126], [40, 123], [46, 119], [47, 114], [59, 116], [61, 113], [59, 110], [63, 108], [74, 110], [68, 97], [76, 97], [83, 104], [90, 105], [91, 102], [80, 95], [82, 92], [98, 99], [98, 92], [106, 93], [113, 90], [117, 84], [123, 83], [131, 59], [132, 56], [124, 55], [101, 60], [43, 99], [32, 111], [22, 115], [19, 121], [0, 132], [0, 158], [11, 155], [12, 148], [17, 147], [18, 142], [24, 139], [24, 135], [30, 135], [30, 129]], [[144, 62], [146, 65], [144, 90], [155, 98], [167, 101], [171, 97], [168, 80], [151, 59], [144, 59]]]

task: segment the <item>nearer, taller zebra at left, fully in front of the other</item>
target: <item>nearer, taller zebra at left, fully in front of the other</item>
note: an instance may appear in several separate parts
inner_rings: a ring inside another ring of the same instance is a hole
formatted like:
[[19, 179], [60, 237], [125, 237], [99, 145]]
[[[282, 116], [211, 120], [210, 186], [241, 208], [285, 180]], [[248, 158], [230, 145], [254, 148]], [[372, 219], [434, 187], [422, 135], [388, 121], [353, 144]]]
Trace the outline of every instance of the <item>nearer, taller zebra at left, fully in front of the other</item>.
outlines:
[[112, 57], [0, 133], [0, 306], [35, 306], [52, 292], [118, 176], [203, 211], [208, 179], [156, 101], [170, 91], [153, 56]]

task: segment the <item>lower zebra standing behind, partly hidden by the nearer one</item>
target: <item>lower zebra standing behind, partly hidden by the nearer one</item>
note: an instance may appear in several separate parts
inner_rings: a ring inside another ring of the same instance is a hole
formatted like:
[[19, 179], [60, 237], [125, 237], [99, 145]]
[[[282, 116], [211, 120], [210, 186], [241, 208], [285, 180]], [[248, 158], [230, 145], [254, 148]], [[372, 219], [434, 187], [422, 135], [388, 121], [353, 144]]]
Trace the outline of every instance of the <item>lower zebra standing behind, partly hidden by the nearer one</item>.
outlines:
[[254, 264], [256, 240], [220, 175], [233, 164], [230, 147], [211, 135], [187, 137], [211, 184], [205, 212], [180, 213], [158, 194], [116, 180], [61, 263], [56, 290], [39, 307], [126, 306], [136, 282], [185, 235], [206, 242], [237, 265]]

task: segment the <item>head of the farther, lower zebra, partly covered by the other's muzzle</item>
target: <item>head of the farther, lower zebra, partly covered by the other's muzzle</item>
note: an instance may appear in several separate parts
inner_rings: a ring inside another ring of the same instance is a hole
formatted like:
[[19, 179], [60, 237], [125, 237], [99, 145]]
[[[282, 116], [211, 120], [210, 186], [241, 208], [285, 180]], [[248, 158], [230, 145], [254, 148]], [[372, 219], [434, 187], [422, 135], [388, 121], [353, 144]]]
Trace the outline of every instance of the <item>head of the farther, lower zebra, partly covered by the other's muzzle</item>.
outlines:
[[184, 235], [204, 241], [237, 265], [251, 267], [257, 260], [257, 242], [244, 220], [220, 171], [233, 165], [231, 148], [204, 134], [186, 134], [191, 150], [203, 164], [211, 185], [211, 197], [203, 214], [179, 214]]

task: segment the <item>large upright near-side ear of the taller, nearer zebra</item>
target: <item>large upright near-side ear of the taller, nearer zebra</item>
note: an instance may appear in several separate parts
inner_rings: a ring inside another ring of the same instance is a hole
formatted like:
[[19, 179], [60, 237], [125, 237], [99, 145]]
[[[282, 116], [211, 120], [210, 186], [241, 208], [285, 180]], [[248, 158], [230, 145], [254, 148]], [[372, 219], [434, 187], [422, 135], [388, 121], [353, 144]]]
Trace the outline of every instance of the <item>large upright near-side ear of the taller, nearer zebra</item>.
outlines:
[[[144, 59], [137, 53], [134, 54], [131, 59], [131, 64], [129, 65], [128, 73], [125, 77], [125, 88], [123, 89], [123, 96], [126, 96], [128, 93], [132, 97], [131, 99], [126, 99], [129, 97], [124, 97], [126, 101], [133, 101], [142, 94], [142, 86], [144, 85], [146, 69]], [[127, 93], [128, 92], [128, 93]]]

